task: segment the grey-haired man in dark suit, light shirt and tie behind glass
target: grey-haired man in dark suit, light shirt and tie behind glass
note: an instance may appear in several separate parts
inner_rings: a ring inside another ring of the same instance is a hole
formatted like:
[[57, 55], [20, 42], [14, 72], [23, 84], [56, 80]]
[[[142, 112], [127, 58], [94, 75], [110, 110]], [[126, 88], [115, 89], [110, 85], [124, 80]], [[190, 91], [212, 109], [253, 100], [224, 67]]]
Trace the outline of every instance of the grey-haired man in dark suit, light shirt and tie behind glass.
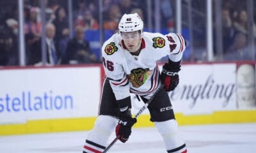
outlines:
[[[45, 25], [45, 43], [46, 43], [46, 54], [47, 54], [47, 63], [46, 65], [56, 65], [60, 61], [60, 51], [56, 41], [53, 40], [56, 33], [55, 26], [51, 23]], [[42, 39], [42, 38], [41, 38]], [[30, 56], [29, 56], [29, 65], [42, 66], [42, 50], [41, 50], [41, 39], [35, 41], [31, 45]]]

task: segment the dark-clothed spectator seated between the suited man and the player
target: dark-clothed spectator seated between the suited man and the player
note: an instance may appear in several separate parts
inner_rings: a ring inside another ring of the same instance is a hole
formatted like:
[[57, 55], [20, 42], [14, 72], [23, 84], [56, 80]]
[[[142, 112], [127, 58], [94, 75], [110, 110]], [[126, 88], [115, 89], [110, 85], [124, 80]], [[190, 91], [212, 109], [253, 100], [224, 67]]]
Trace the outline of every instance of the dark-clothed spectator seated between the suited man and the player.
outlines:
[[84, 29], [81, 26], [77, 26], [76, 37], [68, 41], [67, 49], [63, 55], [63, 61], [61, 64], [82, 64], [97, 62], [97, 58], [90, 51], [90, 45], [88, 41], [84, 40]]

